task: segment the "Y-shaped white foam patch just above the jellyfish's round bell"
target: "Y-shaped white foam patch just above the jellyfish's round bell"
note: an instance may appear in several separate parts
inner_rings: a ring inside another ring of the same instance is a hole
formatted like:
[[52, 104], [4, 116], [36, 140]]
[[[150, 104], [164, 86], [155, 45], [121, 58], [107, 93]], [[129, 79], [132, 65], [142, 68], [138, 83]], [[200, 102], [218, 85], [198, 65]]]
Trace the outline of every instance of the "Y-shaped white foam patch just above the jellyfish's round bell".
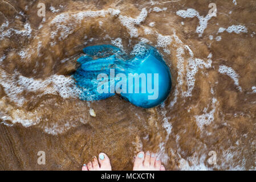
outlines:
[[148, 16], [147, 9], [142, 9], [140, 12], [140, 15], [137, 16], [137, 18], [131, 18], [128, 16], [119, 15], [119, 20], [125, 26], [130, 33], [131, 38], [137, 38], [139, 36], [138, 30], [135, 27], [136, 25], [140, 25], [141, 22], [143, 22]]

